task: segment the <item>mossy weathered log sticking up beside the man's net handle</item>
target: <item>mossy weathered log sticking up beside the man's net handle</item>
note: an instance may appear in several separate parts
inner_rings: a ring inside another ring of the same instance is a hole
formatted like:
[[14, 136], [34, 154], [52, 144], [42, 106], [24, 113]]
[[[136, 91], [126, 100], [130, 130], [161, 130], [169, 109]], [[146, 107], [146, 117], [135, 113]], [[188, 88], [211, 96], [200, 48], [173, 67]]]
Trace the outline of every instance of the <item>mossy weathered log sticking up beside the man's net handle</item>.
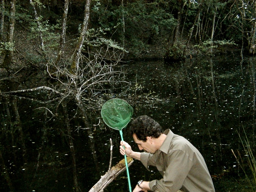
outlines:
[[[127, 157], [128, 167], [133, 163], [131, 157]], [[125, 160], [119, 161], [116, 166], [112, 167], [105, 175], [101, 176], [100, 180], [90, 189], [89, 192], [102, 192], [116, 177], [126, 170]]]

